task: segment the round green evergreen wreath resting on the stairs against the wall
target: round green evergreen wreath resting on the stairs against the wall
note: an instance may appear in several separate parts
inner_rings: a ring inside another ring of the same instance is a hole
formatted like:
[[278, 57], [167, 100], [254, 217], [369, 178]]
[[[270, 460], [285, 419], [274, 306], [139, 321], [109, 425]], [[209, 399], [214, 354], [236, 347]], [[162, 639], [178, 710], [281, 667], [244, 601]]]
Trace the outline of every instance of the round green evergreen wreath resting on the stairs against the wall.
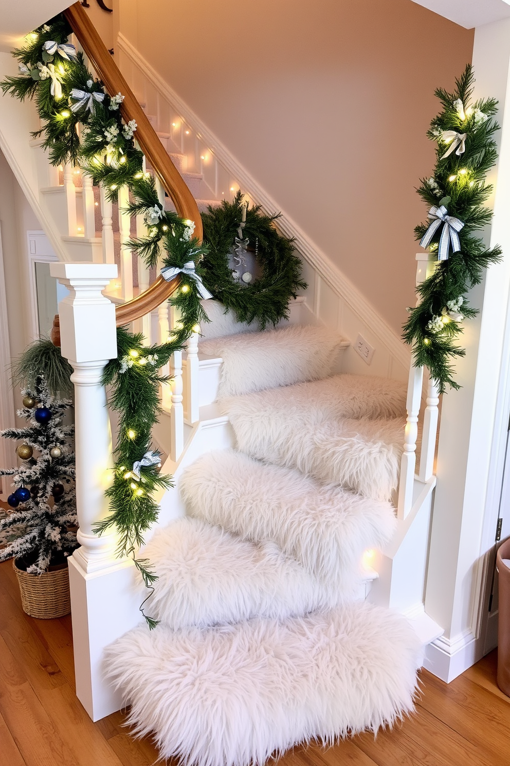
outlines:
[[289, 301], [307, 286], [294, 241], [274, 228], [278, 217], [261, 213], [260, 205], [250, 208], [240, 191], [202, 214], [209, 249], [200, 264], [203, 283], [238, 322], [258, 321], [261, 329], [287, 317]]

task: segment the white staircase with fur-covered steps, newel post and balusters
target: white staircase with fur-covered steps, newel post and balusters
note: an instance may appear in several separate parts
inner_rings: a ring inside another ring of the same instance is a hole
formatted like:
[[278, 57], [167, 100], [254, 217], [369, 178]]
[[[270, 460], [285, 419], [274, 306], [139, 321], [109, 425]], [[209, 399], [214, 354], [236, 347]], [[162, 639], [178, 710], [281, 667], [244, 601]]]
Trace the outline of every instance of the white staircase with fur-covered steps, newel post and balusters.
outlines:
[[[15, 74], [8, 54], [0, 54], [0, 64], [2, 76]], [[104, 71], [98, 74], [108, 81]], [[177, 195], [173, 181], [167, 182], [172, 174], [161, 172], [158, 151], [145, 151], [146, 170], [158, 172], [158, 194], [166, 208], [174, 205], [183, 214], [182, 199], [189, 191], [196, 211], [218, 205], [226, 196], [223, 188], [237, 191], [233, 172], [200, 142], [200, 126], [189, 124], [190, 114], [187, 122], [171, 118], [165, 130], [159, 117], [151, 116], [148, 101], [140, 96], [139, 103], [158, 129], [165, 162], [187, 185]], [[362, 327], [378, 342], [378, 355], [370, 366], [359, 357], [352, 329], [359, 327], [362, 303], [352, 292], [350, 303], [341, 299], [339, 311], [336, 277], [328, 277], [332, 272], [325, 262], [317, 266], [306, 243], [304, 271], [311, 287], [294, 300], [289, 322], [277, 330], [261, 333], [238, 324], [219, 303], [206, 301], [212, 321], [201, 336], [191, 336], [186, 352], [176, 352], [163, 371], [171, 373], [173, 382], [161, 388], [163, 414], [154, 446], [163, 453], [162, 470], [174, 475], [175, 486], [161, 493], [158, 525], [146, 535], [145, 553], [160, 576], [148, 608], [162, 622], [154, 633], [146, 633], [145, 626], [137, 627], [146, 593], [132, 562], [115, 557], [115, 539], [93, 533], [94, 522], [106, 512], [98, 472], [106, 470], [111, 450], [99, 381], [104, 360], [115, 355], [106, 341], [115, 329], [110, 302], [117, 306], [117, 323], [143, 332], [148, 344], [164, 342], [179, 317], [165, 300], [171, 291], [161, 293], [145, 313], [128, 313], [138, 296], [161, 286], [157, 273], [123, 247], [130, 234], [145, 234], [145, 224], [122, 209], [122, 193], [119, 205], [112, 206], [104, 190], [82, 178], [79, 169], [51, 168], [40, 142], [28, 142], [29, 131], [36, 128], [31, 103], [2, 100], [2, 149], [63, 261], [54, 274], [70, 289], [68, 305], [83, 309], [74, 314], [70, 329], [76, 347], [78, 338], [83, 343], [83, 362], [73, 362], [83, 545], [70, 561], [80, 700], [96, 720], [130, 698], [138, 731], [158, 732], [162, 755], [180, 755], [204, 766], [262, 762], [303, 738], [331, 741], [347, 731], [376, 731], [391, 723], [411, 709], [418, 644], [442, 632], [424, 613], [435, 486], [438, 399], [433, 383], [412, 366], [403, 382], [407, 354], [369, 308]], [[257, 201], [250, 188], [243, 190]], [[199, 220], [197, 212], [193, 218]], [[70, 268], [76, 261], [86, 264], [83, 270]], [[418, 281], [427, 268], [427, 254], [422, 254]], [[387, 607], [408, 617], [414, 630]], [[116, 691], [103, 673], [107, 646]], [[209, 659], [216, 657], [216, 675], [210, 676], [210, 666], [204, 671], [210, 686], [202, 697], [190, 692], [187, 683], [195, 673], [189, 668], [197, 667], [204, 651]], [[339, 660], [344, 655], [351, 658], [347, 665]], [[289, 663], [290, 656], [295, 661]], [[229, 698], [231, 713], [226, 702], [220, 704], [224, 698], [214, 696], [219, 670], [225, 671], [223, 679], [232, 680], [225, 657], [239, 663], [239, 679], [244, 679], [239, 698]], [[250, 699], [249, 674], [243, 675], [242, 666], [250, 666], [254, 657], [260, 660], [261, 676], [255, 679], [260, 696]], [[174, 684], [177, 666], [183, 669], [182, 683]], [[310, 683], [300, 686], [307, 671]], [[154, 689], [141, 683], [146, 672], [154, 679], [167, 674], [168, 689], [176, 696], [160, 689], [156, 705]], [[362, 681], [372, 673], [378, 678], [373, 694]], [[282, 699], [273, 674], [287, 679]], [[142, 686], [151, 699], [141, 696]], [[344, 699], [351, 689], [356, 691], [350, 708], [335, 707], [332, 700]], [[170, 725], [162, 711], [178, 705], [184, 709], [190, 693], [197, 702], [195, 717], [176, 717]], [[276, 722], [274, 711], [284, 704], [287, 717]], [[207, 719], [211, 705], [216, 712]], [[359, 715], [352, 715], [354, 708]], [[265, 722], [263, 739], [253, 728], [255, 709], [258, 721]], [[244, 717], [237, 738], [229, 738], [232, 715], [240, 711]], [[196, 736], [195, 744], [193, 737], [179, 738], [184, 730], [196, 735], [204, 720], [210, 720], [211, 732], [226, 735], [211, 740], [204, 734], [201, 744]]]

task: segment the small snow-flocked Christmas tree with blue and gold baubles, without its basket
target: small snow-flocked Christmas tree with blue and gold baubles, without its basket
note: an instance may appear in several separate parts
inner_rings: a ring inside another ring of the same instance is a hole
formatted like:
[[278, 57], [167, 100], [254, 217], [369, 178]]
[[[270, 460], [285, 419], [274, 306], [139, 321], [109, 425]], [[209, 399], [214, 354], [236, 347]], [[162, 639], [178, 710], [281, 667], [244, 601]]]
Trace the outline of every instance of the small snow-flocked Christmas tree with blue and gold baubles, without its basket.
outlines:
[[44, 378], [34, 391], [24, 389], [24, 408], [18, 416], [27, 427], [8, 428], [2, 437], [20, 441], [16, 452], [21, 466], [0, 469], [13, 476], [8, 503], [14, 509], [0, 519], [0, 530], [21, 526], [21, 534], [0, 550], [0, 561], [15, 557], [18, 568], [39, 575], [49, 565], [63, 563], [76, 548], [76, 494], [74, 454], [70, 446], [74, 427], [63, 425], [71, 402], [50, 396]]

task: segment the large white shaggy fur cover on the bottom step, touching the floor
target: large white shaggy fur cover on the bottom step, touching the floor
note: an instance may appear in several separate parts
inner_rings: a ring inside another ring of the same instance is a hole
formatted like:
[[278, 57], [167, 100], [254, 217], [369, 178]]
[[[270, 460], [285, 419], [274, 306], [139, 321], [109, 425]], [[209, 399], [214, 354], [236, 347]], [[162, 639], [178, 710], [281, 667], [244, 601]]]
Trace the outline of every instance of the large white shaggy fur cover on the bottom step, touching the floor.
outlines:
[[403, 617], [360, 602], [203, 631], [143, 625], [105, 666], [161, 758], [262, 766], [298, 742], [331, 744], [411, 712], [420, 654]]

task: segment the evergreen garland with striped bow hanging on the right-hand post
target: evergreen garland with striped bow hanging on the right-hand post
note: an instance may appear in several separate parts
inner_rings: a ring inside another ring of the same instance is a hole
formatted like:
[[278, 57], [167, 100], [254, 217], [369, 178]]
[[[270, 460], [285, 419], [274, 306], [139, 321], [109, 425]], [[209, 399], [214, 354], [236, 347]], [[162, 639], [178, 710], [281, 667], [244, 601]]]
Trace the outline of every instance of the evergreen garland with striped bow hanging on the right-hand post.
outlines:
[[479, 284], [483, 270], [502, 255], [500, 247], [488, 250], [474, 234], [492, 218], [483, 203], [492, 191], [485, 183], [486, 172], [498, 156], [493, 136], [499, 125], [492, 119], [498, 102], [488, 98], [470, 104], [474, 83], [470, 64], [455, 83], [453, 93], [435, 91], [443, 110], [430, 123], [427, 136], [437, 141], [436, 166], [417, 189], [432, 206], [432, 221], [420, 224], [414, 233], [439, 260], [434, 273], [417, 287], [419, 303], [408, 309], [403, 333], [413, 347], [414, 365], [430, 370], [441, 394], [447, 386], [460, 388], [453, 378], [452, 360], [466, 350], [456, 340], [463, 332], [463, 319], [478, 313], [469, 306], [466, 291]]

